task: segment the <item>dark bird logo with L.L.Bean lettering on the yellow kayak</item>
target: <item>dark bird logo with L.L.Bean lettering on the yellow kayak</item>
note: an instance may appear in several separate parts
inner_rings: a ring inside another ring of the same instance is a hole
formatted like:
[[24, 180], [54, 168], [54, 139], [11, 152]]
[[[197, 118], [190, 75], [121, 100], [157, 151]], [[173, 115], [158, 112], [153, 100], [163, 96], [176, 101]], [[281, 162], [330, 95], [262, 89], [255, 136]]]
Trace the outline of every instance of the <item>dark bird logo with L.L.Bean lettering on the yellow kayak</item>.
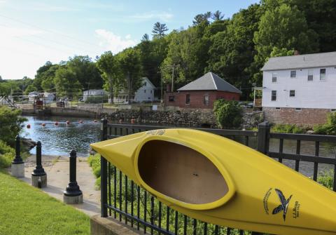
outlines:
[[[276, 194], [274, 194], [274, 196], [276, 196], [276, 198], [280, 202], [280, 205], [276, 206], [276, 208], [274, 208], [272, 210], [272, 215], [282, 213], [283, 221], [286, 221], [288, 206], [289, 206], [289, 203], [290, 203], [290, 199], [292, 199], [293, 195], [290, 195], [288, 198], [286, 198], [286, 196], [283, 194], [283, 192], [281, 192], [280, 189], [274, 189], [274, 191], [273, 191], [272, 188], [269, 188], [267, 190], [265, 196], [264, 196], [263, 201], [262, 201], [263, 204], [264, 204], [265, 213], [267, 215], [269, 215], [268, 201], [269, 201], [269, 198], [272, 195], [272, 192], [276, 192]], [[273, 199], [275, 199], [274, 196], [272, 196]], [[295, 201], [295, 206], [293, 208], [293, 218], [296, 219], [297, 217], [299, 217], [299, 209], [300, 209], [300, 203], [298, 201]]]

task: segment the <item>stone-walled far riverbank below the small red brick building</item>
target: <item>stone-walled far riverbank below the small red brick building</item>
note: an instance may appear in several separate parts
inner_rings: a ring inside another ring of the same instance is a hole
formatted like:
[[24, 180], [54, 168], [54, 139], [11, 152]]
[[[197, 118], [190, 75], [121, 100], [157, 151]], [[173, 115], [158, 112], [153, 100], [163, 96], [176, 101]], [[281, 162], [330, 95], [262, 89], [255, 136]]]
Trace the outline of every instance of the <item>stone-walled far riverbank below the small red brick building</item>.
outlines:
[[[22, 109], [22, 115], [43, 114], [34, 109]], [[212, 109], [163, 109], [153, 110], [153, 107], [127, 106], [120, 109], [115, 107], [103, 107], [102, 105], [82, 104], [78, 107], [50, 107], [48, 114], [51, 116], [88, 117], [94, 119], [106, 118], [109, 121], [131, 123], [132, 119], [137, 123], [169, 124], [179, 126], [197, 126], [216, 128], [216, 117]], [[255, 128], [263, 121], [263, 113], [253, 112], [252, 109], [244, 109], [243, 124], [241, 128]]]

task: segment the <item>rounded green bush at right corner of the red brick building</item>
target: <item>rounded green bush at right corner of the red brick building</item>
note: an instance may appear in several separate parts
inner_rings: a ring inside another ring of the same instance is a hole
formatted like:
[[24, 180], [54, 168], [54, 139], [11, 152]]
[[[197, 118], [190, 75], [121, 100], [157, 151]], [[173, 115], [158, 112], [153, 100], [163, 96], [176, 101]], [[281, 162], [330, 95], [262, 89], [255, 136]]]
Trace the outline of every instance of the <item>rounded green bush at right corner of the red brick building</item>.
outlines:
[[241, 107], [237, 101], [216, 100], [214, 114], [221, 128], [238, 128], [241, 125]]

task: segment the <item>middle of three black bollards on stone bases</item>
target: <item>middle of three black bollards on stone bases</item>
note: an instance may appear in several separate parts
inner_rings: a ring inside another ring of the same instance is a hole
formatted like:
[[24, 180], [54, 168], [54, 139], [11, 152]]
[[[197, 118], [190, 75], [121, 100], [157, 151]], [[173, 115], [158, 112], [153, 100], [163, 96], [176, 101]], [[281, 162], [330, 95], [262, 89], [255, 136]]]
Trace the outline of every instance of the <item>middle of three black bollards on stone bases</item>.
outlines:
[[47, 174], [42, 166], [41, 142], [36, 143], [36, 167], [31, 173], [31, 185], [38, 188], [47, 187]]

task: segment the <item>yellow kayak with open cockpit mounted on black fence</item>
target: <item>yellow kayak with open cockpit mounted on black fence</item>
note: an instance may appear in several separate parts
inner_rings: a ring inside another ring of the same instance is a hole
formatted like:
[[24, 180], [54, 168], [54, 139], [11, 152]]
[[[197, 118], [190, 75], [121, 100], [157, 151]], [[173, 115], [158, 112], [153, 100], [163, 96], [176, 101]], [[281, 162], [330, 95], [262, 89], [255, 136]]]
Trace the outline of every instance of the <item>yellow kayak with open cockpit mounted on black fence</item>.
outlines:
[[91, 146], [190, 217], [270, 234], [336, 234], [335, 192], [225, 137], [162, 129]]

